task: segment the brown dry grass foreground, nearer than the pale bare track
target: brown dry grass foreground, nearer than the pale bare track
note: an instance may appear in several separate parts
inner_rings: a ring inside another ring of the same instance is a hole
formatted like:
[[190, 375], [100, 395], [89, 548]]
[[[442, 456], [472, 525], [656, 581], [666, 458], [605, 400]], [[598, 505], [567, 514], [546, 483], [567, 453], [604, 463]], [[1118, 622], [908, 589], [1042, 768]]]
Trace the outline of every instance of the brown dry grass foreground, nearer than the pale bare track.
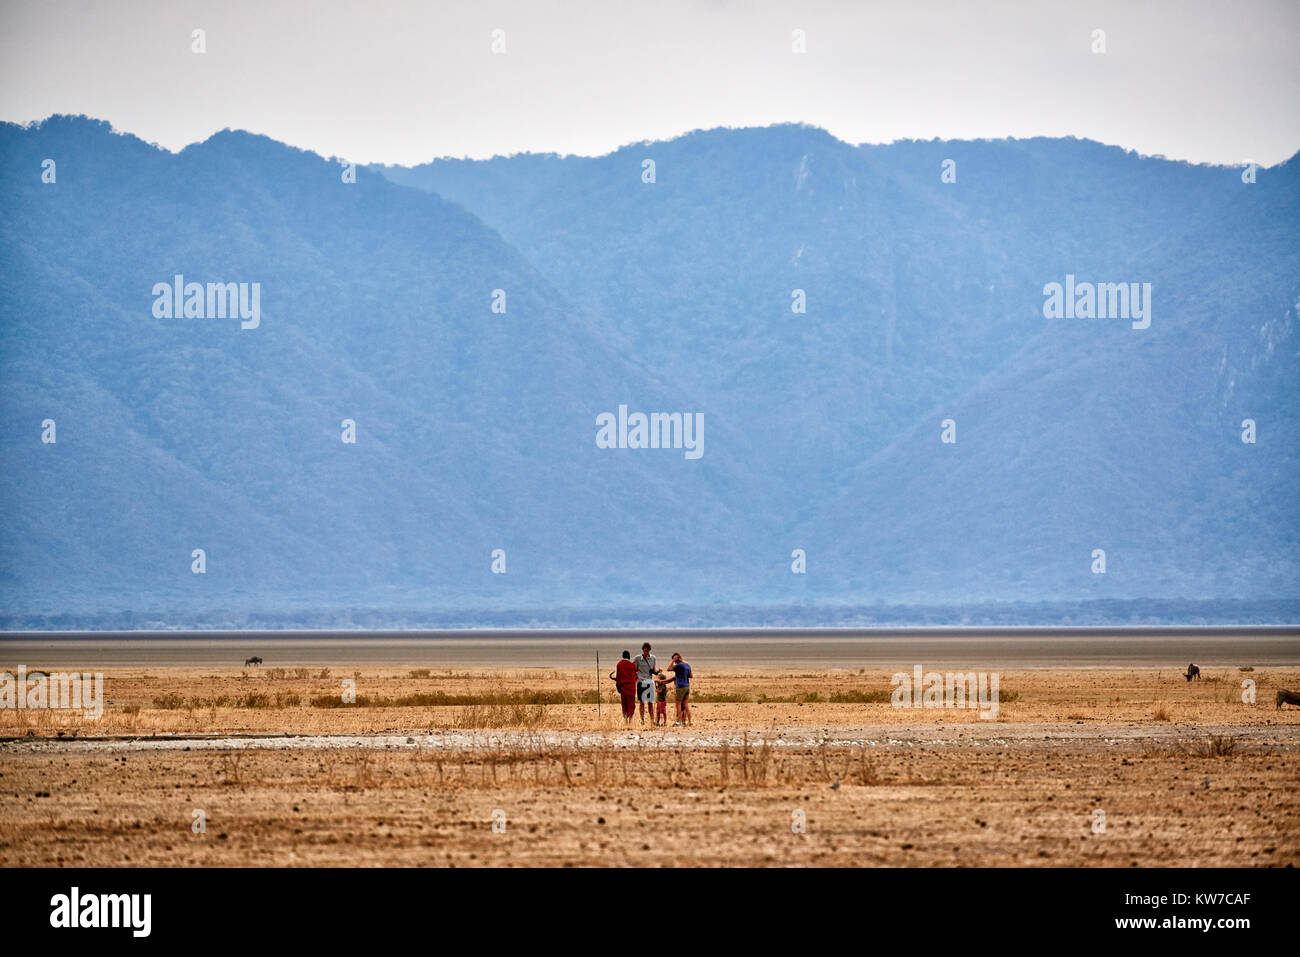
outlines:
[[[1294, 753], [1235, 748], [1223, 761], [1204, 736], [1150, 757], [1086, 742], [933, 750], [737, 737], [706, 749], [602, 736], [547, 746], [526, 735], [506, 746], [485, 732], [465, 750], [177, 748], [55, 761], [14, 750], [0, 866], [1300, 863]], [[1089, 830], [1097, 807], [1105, 835]], [[207, 814], [205, 836], [190, 831], [194, 809]], [[490, 828], [498, 809], [506, 833]], [[792, 833], [794, 810], [806, 833]]]

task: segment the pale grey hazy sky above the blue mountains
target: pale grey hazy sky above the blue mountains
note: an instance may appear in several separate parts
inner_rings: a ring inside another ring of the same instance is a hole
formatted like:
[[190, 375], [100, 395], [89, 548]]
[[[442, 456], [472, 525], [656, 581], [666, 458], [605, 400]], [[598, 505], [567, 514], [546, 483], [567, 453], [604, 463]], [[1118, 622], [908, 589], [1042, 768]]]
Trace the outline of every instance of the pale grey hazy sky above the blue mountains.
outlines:
[[1268, 165], [1300, 148], [1297, 48], [1300, 0], [0, 0], [0, 120], [86, 113], [172, 150], [229, 126], [360, 163], [798, 121]]

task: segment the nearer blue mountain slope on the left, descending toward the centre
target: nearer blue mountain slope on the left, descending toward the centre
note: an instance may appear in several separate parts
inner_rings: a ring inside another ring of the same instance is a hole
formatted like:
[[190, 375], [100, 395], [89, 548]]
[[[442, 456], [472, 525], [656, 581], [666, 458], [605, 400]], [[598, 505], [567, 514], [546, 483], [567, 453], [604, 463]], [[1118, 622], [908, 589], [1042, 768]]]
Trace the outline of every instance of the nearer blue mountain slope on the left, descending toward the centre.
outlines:
[[[58, 120], [3, 160], [6, 609], [526, 605], [656, 515], [722, 537], [708, 482], [593, 456], [597, 412], [676, 390], [464, 211], [246, 134], [170, 156]], [[260, 326], [156, 319], [177, 272], [259, 281]], [[611, 523], [620, 484], [644, 519]]]

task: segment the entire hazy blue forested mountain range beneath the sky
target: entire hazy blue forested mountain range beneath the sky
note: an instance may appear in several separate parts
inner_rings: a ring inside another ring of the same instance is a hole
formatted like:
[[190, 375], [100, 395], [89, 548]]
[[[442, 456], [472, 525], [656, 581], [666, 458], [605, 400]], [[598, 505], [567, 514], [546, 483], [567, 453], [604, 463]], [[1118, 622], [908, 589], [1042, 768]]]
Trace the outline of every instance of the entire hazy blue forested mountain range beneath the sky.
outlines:
[[1297, 176], [0, 125], [0, 627], [1296, 622]]

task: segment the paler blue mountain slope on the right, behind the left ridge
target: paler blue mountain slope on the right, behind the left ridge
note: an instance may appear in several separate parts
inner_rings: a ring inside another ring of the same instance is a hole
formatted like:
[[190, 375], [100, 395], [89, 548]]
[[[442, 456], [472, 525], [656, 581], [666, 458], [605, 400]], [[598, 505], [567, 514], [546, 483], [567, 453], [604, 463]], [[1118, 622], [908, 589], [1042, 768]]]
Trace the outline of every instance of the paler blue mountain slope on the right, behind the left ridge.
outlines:
[[[384, 172], [480, 213], [780, 437], [749, 462], [781, 478], [767, 550], [822, 562], [805, 584], [774, 560], [760, 590], [974, 601], [1295, 594], [1300, 460], [1240, 423], [1297, 411], [1296, 169], [1245, 185], [1086, 140], [772, 127]], [[1067, 274], [1152, 283], [1150, 328], [1044, 319]]]

